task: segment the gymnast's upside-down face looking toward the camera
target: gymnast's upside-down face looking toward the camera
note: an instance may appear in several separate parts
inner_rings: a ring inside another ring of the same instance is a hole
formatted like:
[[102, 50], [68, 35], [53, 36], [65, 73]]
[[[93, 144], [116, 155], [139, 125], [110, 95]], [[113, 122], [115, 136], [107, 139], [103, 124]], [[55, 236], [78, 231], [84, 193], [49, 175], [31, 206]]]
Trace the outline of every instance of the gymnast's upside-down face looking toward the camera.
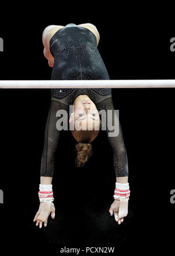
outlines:
[[82, 130], [98, 130], [100, 117], [95, 103], [87, 95], [79, 95], [74, 102], [74, 112], [71, 113], [69, 123], [81, 126]]

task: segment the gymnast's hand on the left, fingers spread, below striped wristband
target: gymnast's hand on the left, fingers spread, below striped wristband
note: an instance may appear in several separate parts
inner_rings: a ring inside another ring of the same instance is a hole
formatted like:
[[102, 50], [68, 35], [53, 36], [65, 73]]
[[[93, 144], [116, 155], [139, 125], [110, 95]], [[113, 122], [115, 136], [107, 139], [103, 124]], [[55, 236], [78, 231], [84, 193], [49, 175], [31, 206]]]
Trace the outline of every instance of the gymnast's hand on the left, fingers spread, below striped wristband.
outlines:
[[36, 216], [34, 216], [33, 221], [36, 222], [36, 226], [39, 225], [40, 229], [42, 227], [42, 224], [44, 222], [44, 227], [47, 226], [47, 220], [48, 216], [51, 213], [52, 219], [55, 219], [55, 206], [53, 202], [45, 201], [41, 202], [38, 212], [36, 213]]

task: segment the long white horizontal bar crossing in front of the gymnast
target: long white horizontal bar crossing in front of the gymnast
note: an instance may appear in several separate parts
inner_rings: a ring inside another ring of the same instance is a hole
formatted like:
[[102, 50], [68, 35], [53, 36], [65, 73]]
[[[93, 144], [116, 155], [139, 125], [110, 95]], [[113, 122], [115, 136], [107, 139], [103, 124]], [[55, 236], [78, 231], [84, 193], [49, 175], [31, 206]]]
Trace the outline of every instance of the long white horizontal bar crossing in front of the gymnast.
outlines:
[[0, 88], [175, 88], [175, 79], [0, 80]]

